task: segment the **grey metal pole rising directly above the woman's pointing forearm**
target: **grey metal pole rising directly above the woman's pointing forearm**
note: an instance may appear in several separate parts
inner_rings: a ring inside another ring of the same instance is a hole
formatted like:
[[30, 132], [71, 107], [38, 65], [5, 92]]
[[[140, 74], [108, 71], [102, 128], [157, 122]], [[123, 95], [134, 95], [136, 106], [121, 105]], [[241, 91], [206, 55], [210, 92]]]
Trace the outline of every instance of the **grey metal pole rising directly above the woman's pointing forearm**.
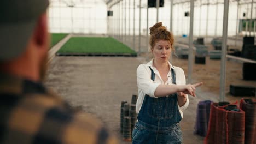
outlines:
[[192, 65], [193, 65], [193, 23], [194, 23], [194, 0], [190, 1], [190, 27], [189, 27], [189, 67], [188, 83], [192, 83]]

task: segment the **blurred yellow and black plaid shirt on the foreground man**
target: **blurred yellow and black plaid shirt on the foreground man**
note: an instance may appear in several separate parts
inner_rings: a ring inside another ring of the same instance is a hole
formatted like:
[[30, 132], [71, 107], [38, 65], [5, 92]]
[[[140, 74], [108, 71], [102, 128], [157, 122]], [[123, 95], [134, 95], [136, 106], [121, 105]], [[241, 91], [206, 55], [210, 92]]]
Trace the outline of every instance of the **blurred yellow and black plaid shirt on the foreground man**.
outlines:
[[0, 143], [117, 143], [91, 115], [77, 115], [42, 83], [0, 73]]

